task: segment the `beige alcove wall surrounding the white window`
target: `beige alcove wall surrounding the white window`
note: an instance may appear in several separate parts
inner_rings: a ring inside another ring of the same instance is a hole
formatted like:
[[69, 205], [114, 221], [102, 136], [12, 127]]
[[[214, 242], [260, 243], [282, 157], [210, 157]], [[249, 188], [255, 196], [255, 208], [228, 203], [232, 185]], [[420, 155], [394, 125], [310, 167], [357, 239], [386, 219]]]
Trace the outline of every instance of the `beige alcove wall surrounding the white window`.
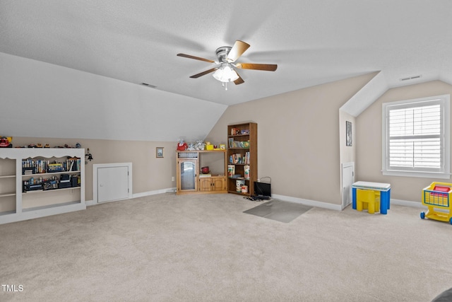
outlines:
[[[387, 182], [391, 184], [391, 199], [421, 202], [422, 189], [431, 182], [450, 182], [434, 178], [407, 178], [386, 176], [381, 173], [381, 133], [383, 103], [425, 98], [434, 95], [451, 94], [452, 86], [441, 81], [432, 81], [412, 86], [393, 88], [384, 93], [367, 110], [357, 117], [357, 161], [355, 164], [356, 180]], [[452, 132], [451, 132], [452, 133]]]

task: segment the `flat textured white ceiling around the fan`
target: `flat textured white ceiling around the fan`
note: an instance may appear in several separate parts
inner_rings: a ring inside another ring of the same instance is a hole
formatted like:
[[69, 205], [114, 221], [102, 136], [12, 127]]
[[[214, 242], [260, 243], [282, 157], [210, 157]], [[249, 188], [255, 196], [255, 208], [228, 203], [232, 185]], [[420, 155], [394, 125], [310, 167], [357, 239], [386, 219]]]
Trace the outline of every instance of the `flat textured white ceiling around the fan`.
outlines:
[[[451, 28], [448, 0], [0, 1], [0, 52], [224, 105], [371, 71], [452, 82]], [[176, 56], [215, 60], [235, 40], [251, 45], [238, 62], [278, 70], [239, 70], [225, 91], [189, 78], [213, 64]]]

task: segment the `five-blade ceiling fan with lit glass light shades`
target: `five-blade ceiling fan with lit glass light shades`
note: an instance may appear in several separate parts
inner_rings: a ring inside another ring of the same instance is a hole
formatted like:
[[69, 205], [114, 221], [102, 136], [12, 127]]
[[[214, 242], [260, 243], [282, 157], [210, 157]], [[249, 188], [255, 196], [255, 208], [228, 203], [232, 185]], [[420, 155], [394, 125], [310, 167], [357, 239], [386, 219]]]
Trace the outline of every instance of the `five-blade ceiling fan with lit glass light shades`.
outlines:
[[197, 59], [204, 62], [215, 63], [219, 66], [215, 66], [212, 69], [208, 69], [199, 74], [190, 76], [192, 79], [197, 79], [200, 76], [205, 76], [206, 74], [213, 73], [213, 77], [218, 81], [223, 83], [225, 89], [227, 90], [227, 83], [234, 82], [235, 85], [244, 83], [245, 81], [237, 74], [234, 69], [255, 69], [264, 71], [275, 71], [278, 68], [276, 64], [254, 64], [254, 63], [237, 63], [237, 59], [249, 48], [249, 44], [240, 40], [235, 41], [234, 46], [223, 46], [216, 50], [218, 61], [212, 61], [210, 59], [204, 59], [201, 57], [191, 56], [190, 54], [177, 54], [179, 57], [185, 57], [189, 59]]

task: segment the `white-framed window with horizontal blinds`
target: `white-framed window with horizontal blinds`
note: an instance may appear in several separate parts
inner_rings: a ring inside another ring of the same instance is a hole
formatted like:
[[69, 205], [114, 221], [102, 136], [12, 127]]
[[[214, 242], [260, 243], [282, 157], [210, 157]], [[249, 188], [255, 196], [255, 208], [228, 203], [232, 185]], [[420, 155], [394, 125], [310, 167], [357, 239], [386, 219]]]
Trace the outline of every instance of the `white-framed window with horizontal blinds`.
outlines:
[[450, 95], [383, 104], [383, 175], [451, 178]]

